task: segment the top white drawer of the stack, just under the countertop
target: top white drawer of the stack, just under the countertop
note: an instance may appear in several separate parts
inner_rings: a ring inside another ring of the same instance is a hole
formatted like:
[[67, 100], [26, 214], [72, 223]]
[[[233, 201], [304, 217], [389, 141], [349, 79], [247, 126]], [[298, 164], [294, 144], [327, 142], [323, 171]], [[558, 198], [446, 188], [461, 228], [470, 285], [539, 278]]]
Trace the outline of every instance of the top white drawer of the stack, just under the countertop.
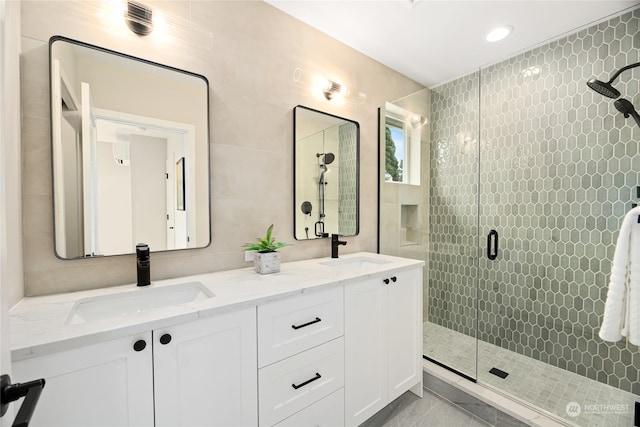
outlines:
[[342, 287], [258, 306], [258, 366], [344, 334]]

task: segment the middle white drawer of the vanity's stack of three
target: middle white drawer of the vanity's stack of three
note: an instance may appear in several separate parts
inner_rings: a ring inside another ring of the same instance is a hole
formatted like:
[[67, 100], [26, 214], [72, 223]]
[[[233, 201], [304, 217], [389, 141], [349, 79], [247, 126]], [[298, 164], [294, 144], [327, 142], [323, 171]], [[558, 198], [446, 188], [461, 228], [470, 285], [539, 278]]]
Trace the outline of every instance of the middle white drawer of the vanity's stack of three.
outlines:
[[258, 372], [259, 420], [272, 426], [344, 387], [344, 338]]

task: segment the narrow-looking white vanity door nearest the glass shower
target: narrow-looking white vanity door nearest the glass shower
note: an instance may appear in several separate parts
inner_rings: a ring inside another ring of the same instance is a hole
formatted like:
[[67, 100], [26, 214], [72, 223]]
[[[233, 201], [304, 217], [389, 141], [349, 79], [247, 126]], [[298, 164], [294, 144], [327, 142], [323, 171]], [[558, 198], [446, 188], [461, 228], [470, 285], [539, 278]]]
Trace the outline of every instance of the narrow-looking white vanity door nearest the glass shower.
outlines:
[[422, 268], [394, 273], [386, 288], [391, 402], [422, 381]]

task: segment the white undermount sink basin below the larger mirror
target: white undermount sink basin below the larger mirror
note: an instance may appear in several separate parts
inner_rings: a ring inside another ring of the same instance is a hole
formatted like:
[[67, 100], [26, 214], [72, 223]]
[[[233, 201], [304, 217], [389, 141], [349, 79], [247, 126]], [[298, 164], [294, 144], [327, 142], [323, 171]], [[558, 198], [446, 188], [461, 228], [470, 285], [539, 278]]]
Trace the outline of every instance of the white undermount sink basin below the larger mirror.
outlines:
[[138, 288], [129, 292], [83, 298], [75, 302], [65, 324], [92, 322], [129, 316], [156, 308], [213, 298], [200, 282], [181, 283], [159, 288]]

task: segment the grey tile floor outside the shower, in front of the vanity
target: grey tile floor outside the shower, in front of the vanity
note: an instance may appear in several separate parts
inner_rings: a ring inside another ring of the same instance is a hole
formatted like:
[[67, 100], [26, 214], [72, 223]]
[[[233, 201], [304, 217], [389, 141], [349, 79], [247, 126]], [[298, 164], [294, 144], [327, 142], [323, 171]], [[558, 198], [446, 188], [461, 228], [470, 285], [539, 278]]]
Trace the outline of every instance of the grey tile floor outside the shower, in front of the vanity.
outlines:
[[410, 392], [391, 402], [360, 427], [487, 427], [459, 406], [424, 391], [420, 399]]

